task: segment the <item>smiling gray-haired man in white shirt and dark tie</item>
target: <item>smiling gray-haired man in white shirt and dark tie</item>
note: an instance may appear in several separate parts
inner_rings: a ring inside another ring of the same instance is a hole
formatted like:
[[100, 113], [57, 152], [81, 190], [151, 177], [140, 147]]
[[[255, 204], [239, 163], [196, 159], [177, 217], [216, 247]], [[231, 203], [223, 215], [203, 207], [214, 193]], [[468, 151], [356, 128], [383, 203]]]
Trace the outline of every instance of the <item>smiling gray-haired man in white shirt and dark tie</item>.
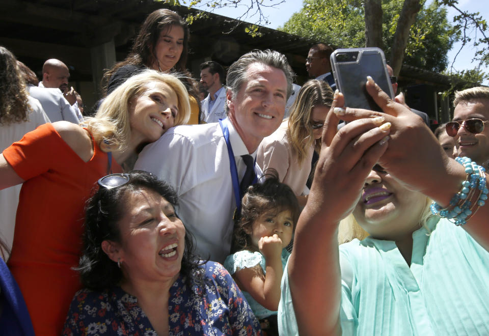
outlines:
[[242, 55], [228, 69], [228, 117], [223, 126], [174, 127], [146, 146], [135, 164], [135, 169], [151, 172], [175, 188], [178, 215], [196, 238], [202, 258], [222, 263], [230, 253], [237, 205], [233, 169], [241, 181], [246, 171], [241, 155], [254, 159], [262, 139], [279, 127], [292, 77], [287, 59], [277, 51]]

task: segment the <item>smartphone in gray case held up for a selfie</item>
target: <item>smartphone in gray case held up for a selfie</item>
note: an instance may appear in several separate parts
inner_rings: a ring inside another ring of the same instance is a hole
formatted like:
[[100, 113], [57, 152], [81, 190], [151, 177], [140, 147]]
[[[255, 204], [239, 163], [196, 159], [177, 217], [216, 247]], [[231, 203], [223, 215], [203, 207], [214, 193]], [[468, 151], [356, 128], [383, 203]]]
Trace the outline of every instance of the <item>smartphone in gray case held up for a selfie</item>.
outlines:
[[367, 76], [371, 76], [384, 92], [394, 98], [386, 58], [381, 49], [336, 49], [330, 59], [336, 87], [344, 95], [346, 107], [382, 111], [365, 88]]

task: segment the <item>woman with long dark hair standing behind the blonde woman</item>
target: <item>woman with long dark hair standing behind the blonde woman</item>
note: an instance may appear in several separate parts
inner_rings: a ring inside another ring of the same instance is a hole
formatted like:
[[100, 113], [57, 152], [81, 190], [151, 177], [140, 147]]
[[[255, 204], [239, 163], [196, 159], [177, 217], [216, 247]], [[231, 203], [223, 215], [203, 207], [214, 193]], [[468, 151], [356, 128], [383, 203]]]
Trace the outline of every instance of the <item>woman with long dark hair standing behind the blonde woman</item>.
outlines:
[[158, 9], [148, 15], [134, 40], [126, 59], [104, 74], [106, 94], [110, 94], [127, 78], [144, 69], [180, 74], [190, 99], [189, 124], [198, 124], [200, 98], [198, 82], [186, 70], [188, 39], [190, 33], [185, 20], [169, 9]]

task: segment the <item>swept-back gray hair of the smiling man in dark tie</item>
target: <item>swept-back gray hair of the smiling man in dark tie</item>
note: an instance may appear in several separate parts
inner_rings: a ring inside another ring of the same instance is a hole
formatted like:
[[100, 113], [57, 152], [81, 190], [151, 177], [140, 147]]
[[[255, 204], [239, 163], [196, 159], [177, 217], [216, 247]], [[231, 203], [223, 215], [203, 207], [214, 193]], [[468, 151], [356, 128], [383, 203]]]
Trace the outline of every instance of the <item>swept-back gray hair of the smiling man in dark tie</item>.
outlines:
[[292, 81], [294, 79], [294, 72], [287, 62], [285, 55], [275, 50], [252, 50], [242, 55], [236, 62], [231, 64], [228, 69], [228, 76], [226, 77], [226, 83], [228, 89], [231, 90], [232, 96], [239, 92], [241, 85], [246, 81], [246, 70], [253, 63], [262, 63], [270, 67], [280, 69], [284, 72], [285, 78], [287, 78], [287, 99], [289, 99], [292, 93]]

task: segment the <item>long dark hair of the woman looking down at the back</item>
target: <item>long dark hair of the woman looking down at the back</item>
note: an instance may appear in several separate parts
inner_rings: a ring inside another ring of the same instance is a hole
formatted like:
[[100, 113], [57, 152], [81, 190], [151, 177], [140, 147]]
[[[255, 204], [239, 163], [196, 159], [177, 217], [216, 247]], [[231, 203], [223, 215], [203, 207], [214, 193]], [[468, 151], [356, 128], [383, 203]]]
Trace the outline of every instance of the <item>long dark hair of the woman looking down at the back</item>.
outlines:
[[190, 35], [188, 25], [178, 13], [169, 9], [158, 9], [149, 14], [146, 20], [144, 20], [139, 34], [134, 40], [131, 52], [127, 55], [126, 59], [117, 63], [111, 70], [105, 72], [105, 89], [112, 75], [117, 69], [124, 65], [132, 64], [135, 66], [146, 66], [151, 68], [156, 60], [155, 47], [158, 42], [159, 34], [167, 31], [172, 26], [180, 26], [183, 28], [183, 49], [180, 59], [175, 64], [175, 70], [187, 74], [185, 65], [187, 63], [188, 38]]

